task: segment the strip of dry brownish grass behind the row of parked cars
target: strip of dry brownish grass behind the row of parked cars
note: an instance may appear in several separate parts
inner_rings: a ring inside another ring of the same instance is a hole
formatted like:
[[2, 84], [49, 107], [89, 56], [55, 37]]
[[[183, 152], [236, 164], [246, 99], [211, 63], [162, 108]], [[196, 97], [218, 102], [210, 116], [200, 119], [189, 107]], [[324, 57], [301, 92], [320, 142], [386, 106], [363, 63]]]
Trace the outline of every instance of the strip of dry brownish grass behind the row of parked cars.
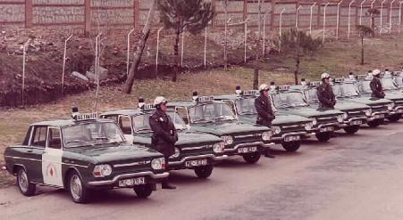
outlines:
[[[365, 40], [365, 65], [359, 65], [359, 41], [332, 42], [326, 44], [314, 55], [306, 55], [301, 61], [301, 77], [317, 79], [323, 71], [333, 76], [343, 76], [349, 71], [366, 72], [368, 69], [397, 69], [402, 65], [400, 51], [403, 37], [382, 37]], [[270, 56], [256, 63], [261, 69], [260, 82], [290, 84], [293, 82], [295, 61], [287, 55]], [[122, 94], [122, 86], [103, 87], [100, 91], [100, 111], [135, 108], [137, 99], [143, 96], [147, 102], [157, 95], [170, 100], [190, 99], [193, 91], [201, 95], [233, 93], [235, 86], [243, 89], [252, 87], [255, 64], [245, 67], [206, 70], [182, 74], [177, 83], [167, 80], [136, 81], [132, 94]], [[277, 70], [280, 67], [285, 69]], [[94, 91], [71, 95], [54, 103], [42, 104], [26, 109], [2, 110], [0, 112], [0, 165], [4, 163], [6, 146], [21, 143], [30, 123], [49, 118], [69, 118], [71, 106], [78, 106], [81, 112], [90, 112], [93, 107]], [[13, 183], [13, 176], [0, 171], [0, 187]]]

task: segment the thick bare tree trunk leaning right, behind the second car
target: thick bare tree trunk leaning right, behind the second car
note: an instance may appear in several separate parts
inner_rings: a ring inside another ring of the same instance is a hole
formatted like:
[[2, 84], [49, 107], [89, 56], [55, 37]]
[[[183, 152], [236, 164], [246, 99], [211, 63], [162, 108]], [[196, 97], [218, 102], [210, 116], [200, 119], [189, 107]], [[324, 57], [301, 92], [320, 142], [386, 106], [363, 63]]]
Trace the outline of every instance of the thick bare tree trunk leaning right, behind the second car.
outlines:
[[141, 61], [141, 55], [143, 54], [144, 47], [146, 46], [147, 39], [150, 35], [151, 23], [154, 19], [156, 0], [153, 0], [153, 3], [150, 6], [150, 9], [147, 14], [147, 20], [144, 24], [143, 32], [139, 38], [138, 45], [136, 47], [136, 51], [134, 52], [133, 61], [130, 66], [129, 76], [126, 79], [126, 83], [124, 84], [123, 92], [126, 94], [131, 93], [131, 89], [134, 83], [134, 77], [136, 75], [137, 70], [139, 69], [139, 64]]

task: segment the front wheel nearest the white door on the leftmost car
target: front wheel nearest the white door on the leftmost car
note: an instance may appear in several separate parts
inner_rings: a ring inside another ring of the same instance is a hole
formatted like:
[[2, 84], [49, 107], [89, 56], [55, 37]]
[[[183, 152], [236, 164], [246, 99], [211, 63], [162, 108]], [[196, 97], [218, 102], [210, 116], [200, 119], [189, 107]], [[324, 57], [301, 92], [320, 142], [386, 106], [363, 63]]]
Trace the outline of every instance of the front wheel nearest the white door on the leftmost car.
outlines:
[[89, 191], [82, 182], [80, 175], [72, 171], [69, 175], [67, 187], [70, 192], [71, 200], [75, 203], [87, 203]]

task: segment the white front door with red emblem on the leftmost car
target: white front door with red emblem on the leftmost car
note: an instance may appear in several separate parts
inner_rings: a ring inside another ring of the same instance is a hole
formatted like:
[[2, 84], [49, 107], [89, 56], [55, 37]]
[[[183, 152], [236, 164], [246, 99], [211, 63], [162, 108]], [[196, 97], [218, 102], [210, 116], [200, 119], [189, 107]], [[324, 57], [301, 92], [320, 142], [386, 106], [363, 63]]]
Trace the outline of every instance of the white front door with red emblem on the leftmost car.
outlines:
[[60, 129], [49, 126], [46, 135], [46, 148], [42, 154], [42, 176], [45, 184], [63, 187], [62, 157]]

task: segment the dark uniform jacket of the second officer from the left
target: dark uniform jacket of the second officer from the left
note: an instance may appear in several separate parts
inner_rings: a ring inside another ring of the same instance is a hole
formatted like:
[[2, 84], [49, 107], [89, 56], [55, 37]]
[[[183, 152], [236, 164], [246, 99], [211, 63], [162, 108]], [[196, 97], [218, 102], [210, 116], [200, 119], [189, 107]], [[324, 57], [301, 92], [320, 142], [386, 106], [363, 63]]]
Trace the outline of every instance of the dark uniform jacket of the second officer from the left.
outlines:
[[264, 94], [260, 94], [255, 100], [255, 108], [257, 111], [256, 124], [262, 126], [272, 126], [275, 118], [270, 99]]

